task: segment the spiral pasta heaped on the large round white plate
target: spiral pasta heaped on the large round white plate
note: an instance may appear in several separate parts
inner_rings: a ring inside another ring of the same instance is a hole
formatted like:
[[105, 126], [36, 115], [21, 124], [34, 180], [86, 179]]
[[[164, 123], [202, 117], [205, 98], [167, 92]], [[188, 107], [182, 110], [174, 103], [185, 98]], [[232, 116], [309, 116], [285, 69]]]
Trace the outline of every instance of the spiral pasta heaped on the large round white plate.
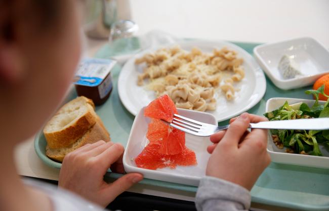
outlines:
[[206, 54], [197, 48], [187, 52], [176, 46], [145, 54], [135, 63], [146, 64], [138, 76], [138, 86], [148, 80], [147, 88], [156, 96], [168, 94], [176, 107], [198, 111], [216, 109], [218, 90], [233, 100], [234, 85], [244, 78], [243, 60], [227, 48]]

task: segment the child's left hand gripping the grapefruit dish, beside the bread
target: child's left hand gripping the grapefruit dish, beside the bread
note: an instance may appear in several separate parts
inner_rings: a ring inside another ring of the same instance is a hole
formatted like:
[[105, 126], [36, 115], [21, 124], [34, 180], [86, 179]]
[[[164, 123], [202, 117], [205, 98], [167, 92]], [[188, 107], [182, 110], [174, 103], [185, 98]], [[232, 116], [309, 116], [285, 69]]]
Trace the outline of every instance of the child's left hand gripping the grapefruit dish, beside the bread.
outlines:
[[124, 173], [123, 152], [122, 145], [104, 141], [74, 150], [63, 160], [59, 186], [105, 207], [120, 193], [143, 179], [141, 174], [130, 173], [111, 184], [104, 182], [103, 176], [109, 167], [113, 172]]

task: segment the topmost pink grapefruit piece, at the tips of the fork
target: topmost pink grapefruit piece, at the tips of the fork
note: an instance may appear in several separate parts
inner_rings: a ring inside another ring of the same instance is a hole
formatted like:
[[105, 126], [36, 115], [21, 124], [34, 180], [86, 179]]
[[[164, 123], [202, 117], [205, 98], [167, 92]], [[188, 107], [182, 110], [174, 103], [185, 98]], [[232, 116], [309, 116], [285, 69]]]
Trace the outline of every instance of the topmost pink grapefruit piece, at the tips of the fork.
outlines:
[[144, 110], [144, 116], [169, 122], [173, 121], [175, 113], [177, 113], [175, 103], [168, 95], [156, 98]]

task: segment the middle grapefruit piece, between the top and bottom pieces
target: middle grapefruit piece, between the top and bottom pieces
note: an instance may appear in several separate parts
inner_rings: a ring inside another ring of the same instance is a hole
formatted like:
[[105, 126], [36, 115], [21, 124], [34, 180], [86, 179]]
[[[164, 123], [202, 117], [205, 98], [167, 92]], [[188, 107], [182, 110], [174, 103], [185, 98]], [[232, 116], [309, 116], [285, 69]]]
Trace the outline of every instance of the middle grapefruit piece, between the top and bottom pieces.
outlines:
[[151, 144], [160, 145], [160, 154], [174, 155], [185, 149], [185, 133], [159, 119], [152, 119], [149, 123], [146, 138]]

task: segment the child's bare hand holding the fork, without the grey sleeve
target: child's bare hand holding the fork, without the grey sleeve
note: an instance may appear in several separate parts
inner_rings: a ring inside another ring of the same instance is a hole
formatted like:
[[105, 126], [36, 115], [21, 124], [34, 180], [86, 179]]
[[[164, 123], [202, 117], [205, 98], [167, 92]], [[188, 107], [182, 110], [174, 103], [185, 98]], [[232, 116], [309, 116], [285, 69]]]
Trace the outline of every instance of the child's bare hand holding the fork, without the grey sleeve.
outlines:
[[251, 190], [258, 177], [271, 162], [266, 152], [267, 130], [246, 131], [250, 122], [266, 121], [261, 116], [243, 113], [230, 121], [229, 129], [210, 137], [214, 145], [206, 175], [238, 184]]

